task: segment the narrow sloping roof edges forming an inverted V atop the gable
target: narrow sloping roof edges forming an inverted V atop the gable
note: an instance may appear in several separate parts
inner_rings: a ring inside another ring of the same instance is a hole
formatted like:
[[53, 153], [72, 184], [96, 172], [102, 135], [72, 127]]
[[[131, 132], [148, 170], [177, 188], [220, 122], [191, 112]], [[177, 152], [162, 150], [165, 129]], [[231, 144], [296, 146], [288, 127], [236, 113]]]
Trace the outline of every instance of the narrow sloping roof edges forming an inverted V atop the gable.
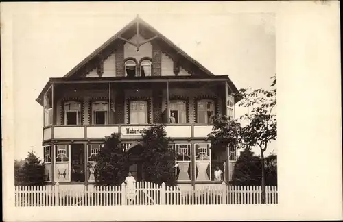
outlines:
[[73, 74], [78, 71], [78, 69], [80, 69], [82, 66], [84, 66], [87, 62], [90, 62], [93, 58], [95, 58], [99, 53], [101, 53], [104, 49], [106, 49], [106, 47], [110, 46], [115, 40], [117, 40], [119, 38], [119, 36], [121, 36], [121, 34], [123, 34], [123, 32], [126, 32], [128, 29], [130, 29], [130, 27], [132, 27], [133, 25], [135, 25], [136, 23], [139, 23], [145, 27], [147, 27], [147, 29], [150, 29], [151, 32], [154, 32], [154, 34], [156, 34], [158, 36], [158, 38], [160, 38], [161, 40], [163, 40], [165, 43], [167, 43], [167, 45], [169, 45], [170, 47], [174, 48], [179, 55], [184, 56], [187, 60], [189, 60], [190, 62], [192, 62], [193, 64], [195, 64], [196, 66], [198, 66], [198, 68], [200, 70], [202, 70], [204, 73], [206, 73], [207, 75], [214, 75], [213, 73], [211, 73], [211, 71], [209, 71], [208, 69], [206, 69], [204, 66], [202, 66], [202, 64], [200, 64], [199, 62], [197, 62], [196, 60], [194, 60], [193, 58], [191, 58], [191, 56], [189, 56], [187, 53], [185, 53], [185, 51], [182, 51], [182, 49], [180, 49], [178, 46], [176, 46], [173, 42], [171, 42], [171, 40], [169, 40], [167, 37], [163, 36], [163, 34], [161, 34], [160, 32], [158, 32], [156, 29], [154, 29], [154, 27], [152, 27], [151, 25], [149, 25], [148, 23], [146, 23], [145, 21], [143, 21], [143, 19], [141, 19], [138, 14], [137, 17], [134, 18], [134, 20], [132, 20], [130, 23], [128, 23], [128, 25], [126, 25], [125, 27], [123, 27], [119, 32], [117, 32], [114, 36], [112, 36], [109, 40], [107, 40], [103, 45], [101, 45], [99, 48], [95, 49], [95, 51], [93, 51], [93, 53], [91, 53], [89, 56], [87, 56], [84, 60], [82, 60], [78, 65], [76, 65], [73, 69], [71, 69], [71, 71], [69, 71], [66, 75], [64, 75], [64, 77], [71, 77], [73, 76]]

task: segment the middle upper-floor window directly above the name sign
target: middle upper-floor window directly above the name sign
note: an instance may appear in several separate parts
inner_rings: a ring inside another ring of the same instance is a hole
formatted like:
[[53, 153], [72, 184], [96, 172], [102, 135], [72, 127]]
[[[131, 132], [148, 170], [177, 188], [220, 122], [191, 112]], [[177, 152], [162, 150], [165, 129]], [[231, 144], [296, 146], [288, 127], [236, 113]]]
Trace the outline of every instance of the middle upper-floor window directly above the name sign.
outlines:
[[147, 123], [147, 101], [130, 102], [130, 123], [146, 124]]

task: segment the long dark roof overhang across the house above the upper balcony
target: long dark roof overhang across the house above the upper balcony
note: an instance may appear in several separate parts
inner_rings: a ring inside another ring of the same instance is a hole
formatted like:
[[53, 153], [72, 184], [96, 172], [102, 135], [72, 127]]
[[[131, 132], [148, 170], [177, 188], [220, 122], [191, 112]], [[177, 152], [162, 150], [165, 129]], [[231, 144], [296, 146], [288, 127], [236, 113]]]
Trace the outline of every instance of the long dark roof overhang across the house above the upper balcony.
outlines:
[[238, 96], [239, 90], [235, 84], [230, 80], [228, 75], [215, 75], [215, 76], [152, 76], [152, 77], [82, 77], [82, 78], [65, 78], [65, 77], [54, 77], [50, 78], [42, 92], [36, 99], [41, 106], [43, 106], [43, 95], [47, 92], [52, 84], [211, 84], [218, 83], [223, 84], [227, 82], [228, 92], [233, 93], [235, 96], [235, 103], [240, 100]]

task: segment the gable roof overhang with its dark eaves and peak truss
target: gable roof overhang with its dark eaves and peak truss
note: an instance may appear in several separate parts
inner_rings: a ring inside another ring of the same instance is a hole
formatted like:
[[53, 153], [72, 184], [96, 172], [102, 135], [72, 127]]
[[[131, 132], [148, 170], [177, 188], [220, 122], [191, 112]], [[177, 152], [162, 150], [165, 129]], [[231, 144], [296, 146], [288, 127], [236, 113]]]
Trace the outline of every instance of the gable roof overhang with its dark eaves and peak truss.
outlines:
[[[131, 42], [130, 38], [137, 34], [139, 36], [143, 36], [145, 41]], [[167, 54], [167, 56], [173, 58], [173, 60], [180, 61], [182, 69], [186, 69], [189, 71], [189, 73], [193, 73], [194, 71], [196, 75], [200, 76], [214, 75], [211, 73], [211, 71], [191, 58], [191, 56], [187, 55], [185, 51], [182, 51], [182, 49], [176, 46], [168, 38], [163, 36], [163, 34], [158, 32], [156, 29], [154, 29], [154, 27], [143, 21], [143, 19], [139, 18], [137, 15], [137, 17], [128, 23], [128, 25], [119, 30], [117, 34], [104, 42], [103, 45], [95, 49], [93, 53], [91, 53], [84, 60], [82, 60], [82, 62], [71, 69], [69, 73], [64, 75], [64, 78], [80, 77], [86, 75], [86, 73], [90, 73], [91, 71], [96, 71], [96, 69], [99, 68], [99, 64], [106, 60], [108, 56], [113, 54], [119, 45], [126, 42], [137, 47], [137, 50], [139, 50], [139, 47], [147, 42], [152, 42], [152, 44], [158, 45], [158, 47], [161, 48], [161, 51]]]

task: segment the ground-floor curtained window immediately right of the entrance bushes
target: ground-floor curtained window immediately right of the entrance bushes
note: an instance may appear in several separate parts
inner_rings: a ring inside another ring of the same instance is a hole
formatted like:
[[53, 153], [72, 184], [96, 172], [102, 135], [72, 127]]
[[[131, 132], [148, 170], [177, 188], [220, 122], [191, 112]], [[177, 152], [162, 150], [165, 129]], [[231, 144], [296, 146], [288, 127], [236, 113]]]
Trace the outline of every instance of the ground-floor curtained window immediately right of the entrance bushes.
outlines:
[[191, 144], [175, 144], [176, 178], [178, 181], [191, 180]]

